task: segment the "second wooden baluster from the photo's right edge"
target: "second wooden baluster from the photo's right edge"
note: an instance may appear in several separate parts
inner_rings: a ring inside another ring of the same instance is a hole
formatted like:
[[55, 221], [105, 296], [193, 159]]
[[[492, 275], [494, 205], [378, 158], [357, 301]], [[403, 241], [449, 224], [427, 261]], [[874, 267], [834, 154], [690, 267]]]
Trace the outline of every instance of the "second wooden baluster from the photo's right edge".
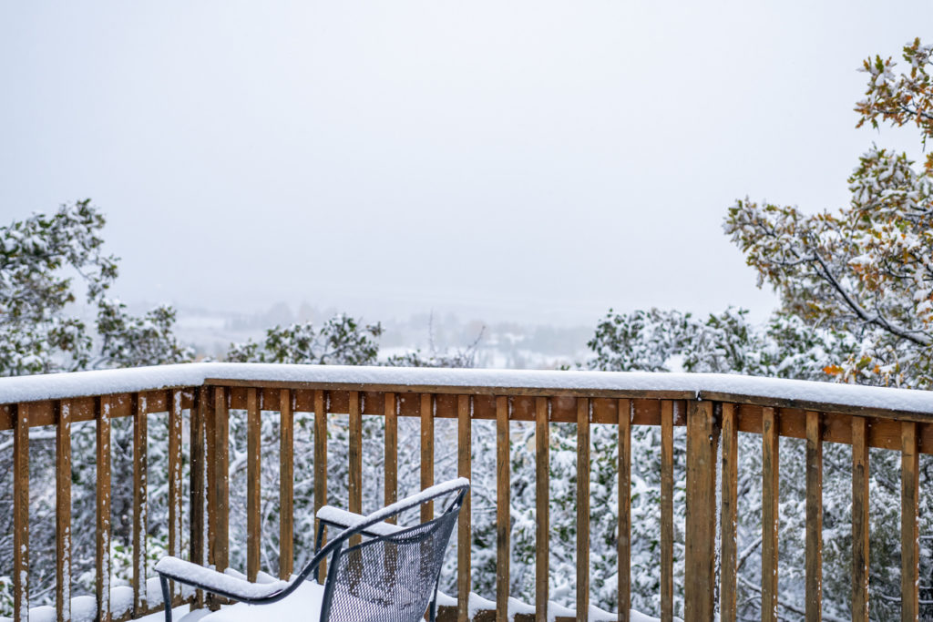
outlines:
[[852, 619], [869, 619], [869, 420], [852, 418]]

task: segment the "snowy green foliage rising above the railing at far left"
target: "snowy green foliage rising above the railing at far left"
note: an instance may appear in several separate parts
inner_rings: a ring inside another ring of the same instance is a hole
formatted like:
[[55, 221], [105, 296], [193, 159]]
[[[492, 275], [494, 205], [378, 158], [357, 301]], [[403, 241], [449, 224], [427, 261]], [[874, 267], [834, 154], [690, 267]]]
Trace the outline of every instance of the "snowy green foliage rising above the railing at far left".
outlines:
[[[55, 214], [33, 214], [0, 228], [0, 376], [94, 367], [160, 365], [189, 360], [172, 333], [174, 310], [137, 318], [105, 296], [117, 278], [117, 257], [104, 255], [104, 215], [79, 200]], [[77, 284], [97, 308], [95, 331], [68, 305]]]

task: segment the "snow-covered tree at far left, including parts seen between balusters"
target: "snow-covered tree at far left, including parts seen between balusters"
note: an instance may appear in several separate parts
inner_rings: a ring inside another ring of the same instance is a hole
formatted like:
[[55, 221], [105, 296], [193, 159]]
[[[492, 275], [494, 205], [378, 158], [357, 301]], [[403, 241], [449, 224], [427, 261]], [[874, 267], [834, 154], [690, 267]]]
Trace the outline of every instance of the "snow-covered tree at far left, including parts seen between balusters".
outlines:
[[[118, 276], [118, 259], [104, 254], [101, 235], [105, 220], [90, 200], [63, 205], [53, 214], [33, 214], [0, 227], [0, 376], [74, 371], [80, 369], [160, 365], [190, 360], [193, 353], [174, 338], [174, 310], [160, 306], [142, 317], [132, 316], [107, 293]], [[81, 298], [96, 309], [88, 325], [72, 305]], [[151, 425], [158, 459], [167, 450], [166, 431]], [[54, 435], [35, 428], [30, 433], [30, 541], [35, 550], [54, 548]], [[12, 481], [9, 433], [0, 433], [0, 480]], [[129, 544], [129, 506], [132, 486], [132, 431], [128, 420], [114, 422], [113, 491], [114, 545]], [[72, 427], [72, 508], [74, 524], [94, 521], [94, 429], [92, 422]], [[166, 473], [150, 472], [150, 485], [164, 484]], [[9, 486], [0, 488], [0, 551], [12, 551], [12, 500]], [[121, 505], [122, 504], [122, 505]], [[150, 533], [166, 533], [166, 517], [150, 514]], [[73, 534], [76, 576], [93, 588], [93, 530]], [[154, 545], [157, 546], [157, 545]], [[129, 554], [129, 553], [128, 553]], [[0, 553], [0, 615], [11, 612], [6, 597], [12, 555]], [[54, 566], [35, 558], [30, 569], [33, 603], [54, 598]], [[117, 576], [119, 583], [128, 577]], [[82, 583], [82, 581], [79, 581]], [[115, 584], [116, 585], [116, 584]]]

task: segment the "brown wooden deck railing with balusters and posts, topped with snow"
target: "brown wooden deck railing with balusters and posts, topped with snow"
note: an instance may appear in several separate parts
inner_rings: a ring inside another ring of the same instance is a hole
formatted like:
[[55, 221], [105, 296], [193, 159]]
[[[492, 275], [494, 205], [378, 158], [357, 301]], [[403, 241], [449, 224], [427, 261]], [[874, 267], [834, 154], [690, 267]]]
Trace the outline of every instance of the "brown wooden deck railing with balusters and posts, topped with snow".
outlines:
[[[313, 368], [304, 380], [296, 373], [288, 380], [274, 380], [272, 366], [264, 366], [255, 379], [248, 373], [220, 375], [230, 366], [204, 366], [198, 373], [203, 380], [178, 386], [141, 386], [133, 391], [108, 394], [80, 394], [74, 388], [58, 389], [43, 399], [16, 399], [0, 406], [0, 430], [12, 430], [14, 472], [14, 619], [28, 619], [29, 603], [29, 430], [48, 426], [56, 435], [56, 609], [59, 620], [70, 615], [71, 583], [71, 455], [70, 427], [76, 422], [96, 422], [97, 430], [97, 521], [96, 574], [99, 619], [110, 620], [110, 424], [118, 418], [131, 418], [133, 429], [132, 478], [132, 610], [124, 618], [135, 618], [158, 610], [144, 600], [146, 560], [146, 438], [147, 416], [168, 412], [168, 549], [181, 554], [182, 543], [182, 421], [189, 411], [188, 445], [190, 461], [190, 516], [188, 517], [188, 555], [199, 563], [211, 563], [223, 570], [229, 563], [229, 411], [247, 412], [247, 547], [246, 574], [255, 580], [260, 556], [260, 411], [279, 413], [280, 434], [280, 524], [279, 574], [287, 577], [293, 569], [293, 420], [296, 412], [314, 413], [314, 505], [327, 503], [327, 417], [349, 418], [349, 499], [351, 511], [359, 512], [362, 503], [362, 431], [363, 415], [384, 417], [384, 495], [385, 503], [397, 496], [397, 422], [399, 417], [419, 418], [421, 422], [421, 483], [433, 478], [434, 422], [457, 421], [457, 470], [460, 476], [471, 473], [471, 422], [492, 420], [496, 429], [496, 533], [497, 574], [496, 608], [480, 612], [474, 619], [504, 622], [508, 610], [509, 565], [509, 422], [534, 422], [536, 426], [536, 614], [518, 615], [516, 619], [546, 618], [549, 601], [549, 430], [552, 422], [576, 423], [578, 429], [577, 477], [577, 620], [587, 619], [590, 597], [590, 434], [593, 425], [618, 426], [618, 485], [628, 491], [631, 481], [630, 453], [633, 426], [656, 425], [661, 428], [661, 619], [670, 620], [674, 612], [674, 430], [686, 426], [686, 536], [684, 606], [688, 621], [714, 618], [715, 598], [723, 620], [736, 617], [736, 490], [738, 449], [737, 433], [761, 436], [762, 548], [761, 612], [763, 620], [776, 620], [778, 607], [778, 482], [779, 437], [806, 441], [806, 618], [820, 619], [822, 551], [822, 446], [825, 442], [852, 446], [852, 617], [868, 619], [869, 598], [869, 451], [871, 447], [898, 450], [902, 463], [902, 606], [903, 619], [918, 619], [919, 541], [917, 532], [918, 454], [933, 452], [933, 409], [925, 409], [929, 400], [915, 400], [920, 406], [903, 407], [904, 392], [874, 390], [872, 399], [879, 404], [890, 401], [898, 408], [876, 408], [864, 403], [846, 404], [833, 396], [815, 401], [807, 395], [793, 394], [796, 384], [777, 384], [777, 394], [751, 394], [734, 391], [699, 391], [692, 388], [645, 388], [647, 376], [624, 374], [599, 377], [587, 387], [578, 379], [580, 372], [555, 372], [547, 382], [539, 375], [521, 385], [490, 384], [494, 372], [470, 376], [450, 372], [431, 375], [425, 370], [395, 369], [389, 382], [361, 381], [331, 370], [327, 378], [315, 380]], [[216, 369], [216, 374], [215, 374]], [[294, 372], [294, 367], [290, 368]], [[248, 368], [247, 368], [248, 371]], [[113, 374], [118, 372], [108, 372]], [[585, 373], [585, 372], [583, 372]], [[215, 375], [212, 375], [215, 374]], [[426, 375], [425, 375], [426, 374]], [[377, 374], [378, 376], [378, 374]], [[89, 378], [92, 378], [89, 376]], [[143, 377], [145, 378], [145, 377]], [[437, 383], [425, 383], [436, 378]], [[470, 385], [477, 378], [484, 383]], [[608, 378], [608, 380], [606, 380]], [[634, 378], [634, 380], [632, 380]], [[699, 377], [698, 377], [699, 378]], [[310, 379], [310, 380], [309, 380]], [[631, 381], [630, 381], [631, 380]], [[637, 381], [635, 381], [637, 380]], [[145, 382], [145, 380], [141, 380]], [[778, 381], [780, 382], [780, 381]], [[698, 385], [703, 379], [697, 380]], [[138, 384], [138, 382], [137, 382]], [[657, 384], [657, 383], [655, 383]], [[741, 384], [741, 383], [740, 383]], [[74, 383], [67, 387], [73, 387]], [[92, 386], [93, 383], [89, 386]], [[548, 385], [548, 386], [544, 386]], [[648, 385], [651, 385], [648, 382]], [[5, 398], [0, 383], [0, 401]], [[64, 386], [64, 385], [63, 385]], [[725, 385], [724, 385], [725, 386]], [[749, 382], [749, 387], [758, 385]], [[787, 387], [782, 389], [782, 387]], [[889, 393], [884, 393], [888, 391]], [[70, 392], [70, 393], [69, 393]], [[772, 392], [773, 393], [773, 392]], [[864, 392], [863, 392], [864, 393]], [[7, 392], [7, 395], [9, 392]], [[22, 393], [21, 393], [22, 394]], [[14, 393], [14, 395], [16, 395]], [[29, 397], [28, 392], [25, 393]], [[836, 392], [833, 395], [842, 395]], [[859, 394], [862, 395], [862, 394]], [[891, 400], [885, 400], [890, 396]], [[897, 398], [897, 399], [895, 399]], [[910, 400], [908, 400], [910, 402]], [[858, 402], [858, 400], [856, 400]], [[721, 449], [721, 450], [720, 450]], [[410, 450], [409, 448], [402, 450]], [[492, 459], [492, 457], [490, 457]], [[721, 461], [721, 463], [720, 463]], [[584, 466], [585, 465], [585, 466]], [[721, 480], [719, 479], [721, 477]], [[206, 487], [204, 482], [207, 483]], [[721, 502], [717, 503], [717, 483]], [[630, 603], [630, 495], [619, 495], [619, 583], [620, 620], [628, 619]], [[206, 521], [206, 530], [205, 527]], [[721, 532], [719, 567], [717, 561], [717, 524]], [[204, 533], [206, 532], [206, 542]], [[457, 532], [458, 604], [441, 612], [442, 619], [467, 619], [467, 595], [470, 591], [470, 505], [467, 501]], [[49, 560], [49, 564], [52, 560]], [[718, 571], [718, 573], [717, 573]], [[718, 577], [718, 586], [717, 586]], [[182, 602], [180, 596], [178, 602]], [[189, 597], [192, 606], [202, 606], [200, 595]], [[560, 618], [559, 618], [560, 619]], [[567, 618], [573, 619], [573, 618]]]

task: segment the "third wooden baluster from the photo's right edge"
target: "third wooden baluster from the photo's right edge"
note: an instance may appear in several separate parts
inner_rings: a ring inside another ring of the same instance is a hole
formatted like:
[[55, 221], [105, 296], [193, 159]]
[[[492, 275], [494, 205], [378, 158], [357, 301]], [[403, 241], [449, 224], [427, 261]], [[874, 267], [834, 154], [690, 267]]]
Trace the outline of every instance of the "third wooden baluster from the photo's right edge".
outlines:
[[823, 618], [823, 426], [807, 412], [806, 619]]

